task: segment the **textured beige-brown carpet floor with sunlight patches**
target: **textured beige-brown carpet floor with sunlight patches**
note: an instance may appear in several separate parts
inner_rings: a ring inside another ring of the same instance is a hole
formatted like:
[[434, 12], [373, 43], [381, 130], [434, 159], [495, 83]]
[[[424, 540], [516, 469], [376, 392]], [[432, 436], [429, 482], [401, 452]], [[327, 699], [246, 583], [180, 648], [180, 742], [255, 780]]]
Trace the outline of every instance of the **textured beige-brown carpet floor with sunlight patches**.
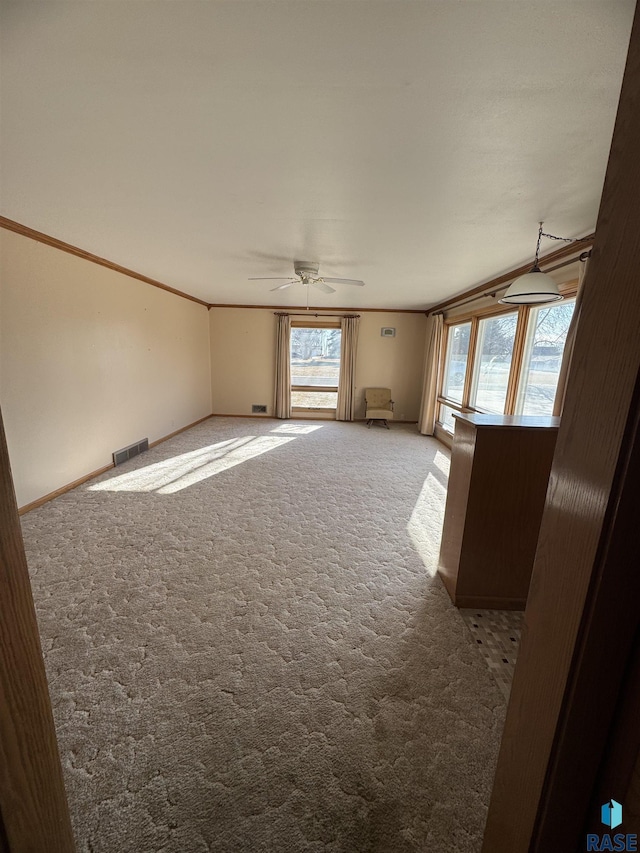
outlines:
[[415, 427], [215, 418], [23, 518], [81, 853], [476, 853], [504, 699]]

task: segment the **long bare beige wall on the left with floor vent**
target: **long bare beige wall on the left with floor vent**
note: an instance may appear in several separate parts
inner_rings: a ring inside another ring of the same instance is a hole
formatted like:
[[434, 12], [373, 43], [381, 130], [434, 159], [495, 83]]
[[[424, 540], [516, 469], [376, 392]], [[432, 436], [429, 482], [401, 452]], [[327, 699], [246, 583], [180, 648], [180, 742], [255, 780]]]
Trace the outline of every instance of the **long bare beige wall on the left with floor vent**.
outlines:
[[211, 412], [207, 309], [0, 230], [0, 401], [20, 506]]

